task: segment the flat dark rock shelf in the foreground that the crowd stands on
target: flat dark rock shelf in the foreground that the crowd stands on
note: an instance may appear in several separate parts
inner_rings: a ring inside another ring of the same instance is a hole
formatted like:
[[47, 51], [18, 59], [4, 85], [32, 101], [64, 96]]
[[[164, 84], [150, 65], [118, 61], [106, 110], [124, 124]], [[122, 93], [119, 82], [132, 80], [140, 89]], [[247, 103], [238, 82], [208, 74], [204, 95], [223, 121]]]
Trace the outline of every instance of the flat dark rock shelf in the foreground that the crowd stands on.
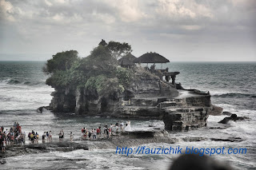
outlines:
[[200, 136], [175, 138], [170, 137], [168, 132], [164, 130], [158, 131], [135, 131], [135, 132], [122, 132], [120, 135], [111, 136], [110, 139], [98, 138], [97, 140], [75, 140], [74, 142], [62, 141], [51, 142], [43, 144], [23, 144], [8, 146], [6, 152], [0, 152], [0, 164], [5, 164], [5, 158], [10, 156], [22, 156], [26, 154], [38, 154], [43, 152], [71, 152], [78, 149], [94, 150], [106, 149], [117, 147], [132, 147], [141, 144], [150, 143], [166, 143], [176, 144], [178, 141], [183, 140], [186, 142], [213, 140], [213, 141], [230, 141], [241, 142], [241, 138], [203, 138]]

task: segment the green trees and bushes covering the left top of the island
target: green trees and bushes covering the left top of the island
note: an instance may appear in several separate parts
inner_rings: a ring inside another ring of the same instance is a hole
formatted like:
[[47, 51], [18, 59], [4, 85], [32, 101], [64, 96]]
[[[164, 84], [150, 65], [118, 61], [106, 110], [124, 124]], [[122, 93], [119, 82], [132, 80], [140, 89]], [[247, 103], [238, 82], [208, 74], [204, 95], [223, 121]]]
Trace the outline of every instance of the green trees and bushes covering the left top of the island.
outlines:
[[117, 58], [131, 51], [127, 43], [98, 45], [88, 57], [78, 57], [75, 50], [56, 53], [43, 68], [50, 77], [46, 85], [55, 89], [87, 89], [99, 96], [123, 93], [134, 78], [132, 69], [118, 67]]

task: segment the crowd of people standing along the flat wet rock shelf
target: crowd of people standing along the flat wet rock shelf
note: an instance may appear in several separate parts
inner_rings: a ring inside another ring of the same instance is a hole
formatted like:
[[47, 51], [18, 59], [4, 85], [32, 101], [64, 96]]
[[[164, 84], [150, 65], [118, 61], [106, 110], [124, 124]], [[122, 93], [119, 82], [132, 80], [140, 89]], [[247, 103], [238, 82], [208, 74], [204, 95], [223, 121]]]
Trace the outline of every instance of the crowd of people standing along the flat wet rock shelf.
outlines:
[[[109, 139], [111, 135], [116, 135], [119, 132], [130, 132], [130, 121], [126, 122], [126, 125], [123, 121], [117, 122], [115, 125], [102, 125], [98, 126], [98, 128], [82, 128], [82, 139], [83, 140], [96, 140], [97, 138], [106, 138]], [[51, 131], [43, 132], [42, 134], [42, 143], [52, 142], [53, 134]], [[27, 135], [29, 144], [38, 144], [39, 134], [38, 132], [34, 132], [32, 130]], [[64, 139], [64, 131], [63, 129], [58, 133], [59, 141], [61, 142]], [[70, 132], [70, 141], [74, 140], [73, 132]], [[22, 132], [21, 125], [18, 122], [14, 122], [13, 127], [9, 130], [4, 127], [0, 128], [0, 144], [2, 145], [2, 152], [6, 152], [7, 145], [13, 144], [25, 144], [26, 143], [26, 132]]]

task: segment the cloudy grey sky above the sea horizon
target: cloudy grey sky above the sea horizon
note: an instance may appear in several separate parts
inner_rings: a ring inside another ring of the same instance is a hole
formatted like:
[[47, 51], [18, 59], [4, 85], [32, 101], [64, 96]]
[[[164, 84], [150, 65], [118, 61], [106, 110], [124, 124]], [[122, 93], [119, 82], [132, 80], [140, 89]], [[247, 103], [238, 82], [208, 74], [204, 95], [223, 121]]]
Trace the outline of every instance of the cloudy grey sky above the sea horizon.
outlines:
[[46, 61], [102, 39], [135, 57], [256, 61], [256, 0], [0, 0], [0, 60]]

